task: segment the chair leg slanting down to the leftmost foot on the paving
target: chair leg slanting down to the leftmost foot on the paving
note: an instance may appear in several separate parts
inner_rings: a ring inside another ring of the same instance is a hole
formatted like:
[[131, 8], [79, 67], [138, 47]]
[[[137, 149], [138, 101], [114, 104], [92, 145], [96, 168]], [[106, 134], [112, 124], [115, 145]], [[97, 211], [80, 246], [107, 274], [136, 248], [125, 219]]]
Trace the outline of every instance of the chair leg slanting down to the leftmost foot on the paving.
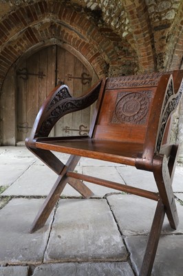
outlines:
[[45, 199], [45, 202], [39, 213], [36, 215], [36, 218], [33, 221], [32, 227], [30, 229], [30, 233], [38, 230], [39, 228], [45, 225], [45, 221], [49, 217], [52, 209], [54, 208], [56, 201], [59, 199], [65, 185], [67, 184], [68, 177], [67, 177], [67, 170], [74, 170], [76, 165], [78, 164], [80, 157], [76, 155], [71, 155], [67, 161], [67, 164], [64, 166], [61, 175], [58, 176], [56, 182], [50, 191], [50, 194]]

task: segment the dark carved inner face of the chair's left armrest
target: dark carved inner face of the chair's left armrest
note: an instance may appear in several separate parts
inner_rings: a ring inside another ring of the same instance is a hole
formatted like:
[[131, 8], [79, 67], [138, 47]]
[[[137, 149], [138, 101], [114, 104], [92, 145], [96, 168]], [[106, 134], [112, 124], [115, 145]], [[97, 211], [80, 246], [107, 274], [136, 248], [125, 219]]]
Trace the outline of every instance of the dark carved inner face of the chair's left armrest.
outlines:
[[90, 106], [98, 99], [99, 91], [100, 86], [84, 97], [74, 98], [69, 95], [66, 87], [60, 90], [49, 104], [47, 108], [47, 117], [43, 121], [43, 124], [41, 124], [41, 128], [36, 132], [35, 137], [47, 137], [58, 119], [69, 112], [74, 112]]

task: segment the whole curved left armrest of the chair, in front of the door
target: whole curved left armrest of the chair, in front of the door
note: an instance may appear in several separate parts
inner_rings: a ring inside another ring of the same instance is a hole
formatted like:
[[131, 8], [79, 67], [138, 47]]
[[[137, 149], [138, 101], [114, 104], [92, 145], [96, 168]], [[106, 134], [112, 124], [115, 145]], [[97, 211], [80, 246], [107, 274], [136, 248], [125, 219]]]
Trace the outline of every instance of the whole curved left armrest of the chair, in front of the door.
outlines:
[[37, 137], [47, 137], [58, 119], [64, 115], [91, 106], [98, 99], [101, 82], [92, 86], [87, 95], [78, 98], [72, 97], [65, 85], [54, 88], [36, 116], [30, 137], [25, 141], [26, 146], [33, 146]]

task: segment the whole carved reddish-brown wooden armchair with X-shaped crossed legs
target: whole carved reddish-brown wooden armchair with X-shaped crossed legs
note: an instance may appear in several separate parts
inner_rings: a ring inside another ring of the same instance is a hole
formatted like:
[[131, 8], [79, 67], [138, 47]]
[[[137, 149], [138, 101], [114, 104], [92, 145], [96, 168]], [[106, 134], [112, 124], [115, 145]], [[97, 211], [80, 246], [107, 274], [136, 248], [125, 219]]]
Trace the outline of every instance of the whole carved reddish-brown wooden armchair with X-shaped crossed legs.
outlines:
[[[153, 199], [158, 204], [140, 270], [141, 276], [151, 275], [165, 213], [172, 228], [178, 224], [171, 186], [178, 147], [167, 141], [170, 118], [182, 95], [182, 76], [180, 70], [106, 78], [80, 98], [72, 97], [65, 85], [50, 93], [25, 144], [56, 172], [58, 179], [34, 219], [31, 232], [45, 224], [67, 183], [85, 198], [93, 193], [83, 181]], [[87, 108], [94, 101], [97, 101], [96, 109], [88, 136], [48, 137], [58, 119]], [[67, 164], [64, 165], [52, 151], [69, 153]], [[74, 168], [80, 157], [113, 161], [153, 172], [159, 192], [76, 173]]]

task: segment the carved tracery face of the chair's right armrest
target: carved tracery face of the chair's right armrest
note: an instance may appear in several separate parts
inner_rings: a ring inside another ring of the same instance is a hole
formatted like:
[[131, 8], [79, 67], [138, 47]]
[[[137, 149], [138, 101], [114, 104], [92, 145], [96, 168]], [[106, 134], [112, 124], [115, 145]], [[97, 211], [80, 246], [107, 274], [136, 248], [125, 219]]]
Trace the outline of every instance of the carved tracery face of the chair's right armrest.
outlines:
[[175, 110], [175, 108], [177, 107], [177, 105], [180, 101], [180, 98], [182, 97], [182, 92], [183, 92], [183, 82], [182, 82], [182, 85], [180, 86], [179, 91], [177, 92], [177, 95], [174, 98], [171, 97], [174, 94], [173, 93], [173, 81], [171, 81], [169, 83], [169, 88], [166, 92], [166, 98], [164, 101], [160, 132], [159, 132], [158, 141], [156, 144], [157, 152], [160, 151], [160, 147], [161, 147], [162, 139], [163, 139], [163, 135], [164, 135], [164, 130], [166, 128], [166, 122], [168, 121], [169, 116], [171, 115], [171, 112], [173, 112], [173, 110]]

